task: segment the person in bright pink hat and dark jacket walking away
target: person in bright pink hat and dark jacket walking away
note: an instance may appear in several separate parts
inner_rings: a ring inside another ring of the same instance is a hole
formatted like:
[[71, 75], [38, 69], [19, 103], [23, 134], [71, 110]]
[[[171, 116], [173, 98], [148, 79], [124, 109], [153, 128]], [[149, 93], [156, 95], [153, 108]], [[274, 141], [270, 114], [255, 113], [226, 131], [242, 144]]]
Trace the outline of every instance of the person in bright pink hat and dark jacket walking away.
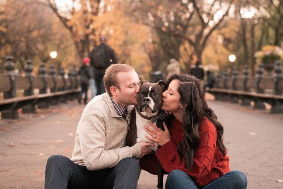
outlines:
[[80, 87], [82, 88], [79, 94], [78, 100], [79, 100], [79, 103], [81, 103], [83, 93], [85, 93], [84, 103], [86, 104], [87, 99], [88, 99], [88, 84], [89, 84], [89, 79], [91, 78], [91, 74], [92, 74], [91, 69], [90, 69], [89, 58], [83, 59], [83, 65], [80, 66], [78, 74], [80, 75]]

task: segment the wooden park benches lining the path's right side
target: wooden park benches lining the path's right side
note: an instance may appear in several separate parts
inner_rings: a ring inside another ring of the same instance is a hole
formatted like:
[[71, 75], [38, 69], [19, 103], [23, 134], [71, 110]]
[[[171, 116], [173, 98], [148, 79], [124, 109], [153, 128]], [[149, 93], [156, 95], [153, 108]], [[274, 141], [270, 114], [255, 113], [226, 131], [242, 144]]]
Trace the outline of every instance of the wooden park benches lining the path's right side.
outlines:
[[265, 109], [264, 102], [271, 105], [270, 113], [283, 113], [283, 79], [282, 67], [277, 62], [274, 67], [274, 75], [263, 75], [261, 65], [256, 70], [256, 76], [249, 76], [248, 66], [245, 66], [243, 75], [238, 76], [236, 67], [233, 68], [229, 77], [227, 71], [223, 74], [218, 72], [215, 85], [207, 92], [215, 95], [215, 100], [240, 103], [250, 106], [254, 102], [254, 109]]

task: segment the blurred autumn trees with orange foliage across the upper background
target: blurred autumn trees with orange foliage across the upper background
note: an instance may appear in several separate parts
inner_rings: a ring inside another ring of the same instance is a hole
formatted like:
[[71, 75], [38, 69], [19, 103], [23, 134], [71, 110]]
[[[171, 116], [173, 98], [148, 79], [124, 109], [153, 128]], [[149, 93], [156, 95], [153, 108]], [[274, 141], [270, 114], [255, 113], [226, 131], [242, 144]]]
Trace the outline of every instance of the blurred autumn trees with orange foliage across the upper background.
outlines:
[[141, 78], [171, 58], [183, 73], [200, 60], [206, 70], [246, 64], [255, 75], [263, 53], [283, 56], [282, 20], [282, 0], [0, 0], [0, 73], [8, 55], [20, 73], [27, 59], [35, 74], [41, 62], [78, 68], [103, 35]]

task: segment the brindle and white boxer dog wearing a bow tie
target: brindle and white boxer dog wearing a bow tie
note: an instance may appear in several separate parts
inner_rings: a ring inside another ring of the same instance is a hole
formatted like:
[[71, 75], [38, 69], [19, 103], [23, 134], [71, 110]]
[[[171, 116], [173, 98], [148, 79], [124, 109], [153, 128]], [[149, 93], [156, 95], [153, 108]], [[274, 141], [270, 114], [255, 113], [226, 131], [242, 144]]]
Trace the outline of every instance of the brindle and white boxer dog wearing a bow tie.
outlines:
[[[145, 135], [150, 135], [144, 130], [144, 126], [149, 126], [150, 122], [164, 131], [163, 120], [166, 118], [167, 114], [165, 111], [161, 111], [160, 108], [163, 102], [162, 93], [165, 90], [166, 83], [162, 80], [157, 83], [149, 83], [144, 80], [140, 82], [137, 97], [138, 105], [131, 112], [129, 131], [126, 138], [127, 146], [134, 146], [137, 142], [152, 143], [152, 141], [145, 137]], [[159, 147], [160, 146], [156, 143], [154, 146], [149, 146], [154, 152], [156, 152]], [[163, 176], [164, 170], [161, 164], [157, 162], [157, 188], [159, 189], [163, 188]]]

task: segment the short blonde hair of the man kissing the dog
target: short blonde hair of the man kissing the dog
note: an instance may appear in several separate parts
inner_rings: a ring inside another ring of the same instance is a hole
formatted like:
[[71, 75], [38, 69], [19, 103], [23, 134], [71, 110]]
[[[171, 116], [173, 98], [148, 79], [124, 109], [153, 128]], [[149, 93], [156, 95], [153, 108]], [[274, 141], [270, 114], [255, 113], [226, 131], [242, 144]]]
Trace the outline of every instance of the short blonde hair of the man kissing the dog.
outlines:
[[111, 66], [106, 69], [103, 82], [105, 90], [110, 96], [112, 96], [110, 87], [117, 87], [120, 90], [118, 73], [127, 71], [135, 71], [135, 69], [127, 64], [111, 64]]

